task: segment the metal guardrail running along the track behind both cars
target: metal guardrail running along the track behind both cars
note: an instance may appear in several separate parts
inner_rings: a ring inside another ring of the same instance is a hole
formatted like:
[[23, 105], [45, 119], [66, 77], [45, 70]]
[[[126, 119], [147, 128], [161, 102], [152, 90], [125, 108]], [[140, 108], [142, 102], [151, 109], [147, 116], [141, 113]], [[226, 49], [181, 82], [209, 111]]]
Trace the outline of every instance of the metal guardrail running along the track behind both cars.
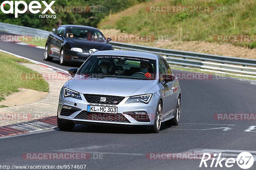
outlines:
[[[30, 28], [26, 26], [17, 26], [0, 22], [0, 31], [30, 36], [42, 36], [47, 38], [49, 31]], [[192, 67], [207, 70], [215, 70], [244, 75], [256, 75], [256, 60], [237, 57], [228, 57], [222, 55], [210, 55], [188, 51], [178, 51], [164, 48], [154, 48], [127, 44], [122, 42], [110, 42], [113, 48], [149, 52], [162, 55], [168, 63], [177, 67]]]

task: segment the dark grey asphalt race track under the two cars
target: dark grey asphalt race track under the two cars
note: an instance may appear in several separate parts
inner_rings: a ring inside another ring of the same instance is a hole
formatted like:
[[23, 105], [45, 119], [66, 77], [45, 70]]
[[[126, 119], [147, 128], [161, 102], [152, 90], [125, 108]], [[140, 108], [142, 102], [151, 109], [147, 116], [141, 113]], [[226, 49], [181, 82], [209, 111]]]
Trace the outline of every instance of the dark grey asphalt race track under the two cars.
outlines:
[[[0, 42], [0, 49], [65, 70], [77, 66], [60, 66], [57, 60], [44, 61], [43, 49], [7, 42]], [[173, 72], [190, 73], [180, 70]], [[159, 133], [150, 134], [145, 129], [137, 128], [76, 125], [73, 131], [60, 131], [55, 128], [42, 133], [0, 138], [0, 164], [86, 165], [86, 169], [199, 169], [201, 159], [150, 160], [146, 155], [192, 151], [237, 155], [241, 150], [256, 151], [256, 132], [245, 131], [250, 126], [256, 126], [255, 120], [220, 121], [213, 117], [216, 113], [256, 113], [255, 81], [216, 79], [213, 76], [209, 80], [180, 80], [180, 87], [181, 117], [178, 126], [162, 124]], [[24, 153], [67, 152], [90, 153], [91, 157], [87, 160], [22, 158]], [[102, 159], [97, 159], [97, 154]], [[207, 163], [210, 166], [211, 162]], [[223, 166], [224, 164], [222, 163]], [[241, 168], [234, 164], [231, 168], [218, 166], [217, 169]], [[256, 169], [256, 163], [251, 169]]]

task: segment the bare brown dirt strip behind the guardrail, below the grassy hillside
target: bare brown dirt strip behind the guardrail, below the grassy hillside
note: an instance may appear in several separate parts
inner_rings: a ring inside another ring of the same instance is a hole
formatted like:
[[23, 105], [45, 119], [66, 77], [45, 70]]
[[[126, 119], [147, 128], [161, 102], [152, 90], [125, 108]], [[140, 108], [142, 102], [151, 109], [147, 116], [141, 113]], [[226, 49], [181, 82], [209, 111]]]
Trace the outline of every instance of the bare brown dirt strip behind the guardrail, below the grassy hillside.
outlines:
[[[105, 35], [128, 35], [121, 33], [116, 29], [103, 29], [100, 30]], [[244, 48], [232, 44], [221, 44], [218, 42], [206, 41], [153, 41], [153, 42], [124, 42], [129, 44], [138, 44], [156, 48], [167, 48], [181, 51], [191, 51], [196, 53], [225, 55], [230, 57], [250, 58], [256, 59], [256, 49]]]

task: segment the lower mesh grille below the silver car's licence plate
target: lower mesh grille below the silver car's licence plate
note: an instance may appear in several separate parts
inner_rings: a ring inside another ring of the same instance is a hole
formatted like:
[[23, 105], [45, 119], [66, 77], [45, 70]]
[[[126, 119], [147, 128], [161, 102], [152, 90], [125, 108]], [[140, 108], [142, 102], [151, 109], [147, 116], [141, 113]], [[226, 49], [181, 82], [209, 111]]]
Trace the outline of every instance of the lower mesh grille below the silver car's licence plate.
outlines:
[[124, 115], [118, 113], [87, 113], [87, 111], [82, 111], [75, 119], [130, 123]]

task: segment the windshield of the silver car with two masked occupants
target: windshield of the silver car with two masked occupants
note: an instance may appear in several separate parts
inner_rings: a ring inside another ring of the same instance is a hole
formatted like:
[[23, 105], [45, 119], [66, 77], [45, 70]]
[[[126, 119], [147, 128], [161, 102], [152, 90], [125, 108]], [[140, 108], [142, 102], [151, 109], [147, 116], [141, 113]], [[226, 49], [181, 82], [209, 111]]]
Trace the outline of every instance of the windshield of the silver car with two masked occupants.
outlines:
[[156, 60], [131, 56], [92, 55], [77, 74], [129, 79], [156, 79]]

